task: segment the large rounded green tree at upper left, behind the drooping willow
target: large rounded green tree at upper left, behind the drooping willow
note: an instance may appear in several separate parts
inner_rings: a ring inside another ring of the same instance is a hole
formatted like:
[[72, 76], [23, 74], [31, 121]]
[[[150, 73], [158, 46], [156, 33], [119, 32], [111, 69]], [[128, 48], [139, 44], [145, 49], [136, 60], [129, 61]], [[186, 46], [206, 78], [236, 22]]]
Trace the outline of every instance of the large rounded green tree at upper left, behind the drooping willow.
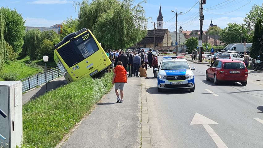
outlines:
[[15, 9], [1, 8], [3, 18], [6, 22], [6, 32], [4, 38], [9, 43], [16, 53], [22, 51], [24, 44], [23, 37], [25, 35], [24, 19]]

